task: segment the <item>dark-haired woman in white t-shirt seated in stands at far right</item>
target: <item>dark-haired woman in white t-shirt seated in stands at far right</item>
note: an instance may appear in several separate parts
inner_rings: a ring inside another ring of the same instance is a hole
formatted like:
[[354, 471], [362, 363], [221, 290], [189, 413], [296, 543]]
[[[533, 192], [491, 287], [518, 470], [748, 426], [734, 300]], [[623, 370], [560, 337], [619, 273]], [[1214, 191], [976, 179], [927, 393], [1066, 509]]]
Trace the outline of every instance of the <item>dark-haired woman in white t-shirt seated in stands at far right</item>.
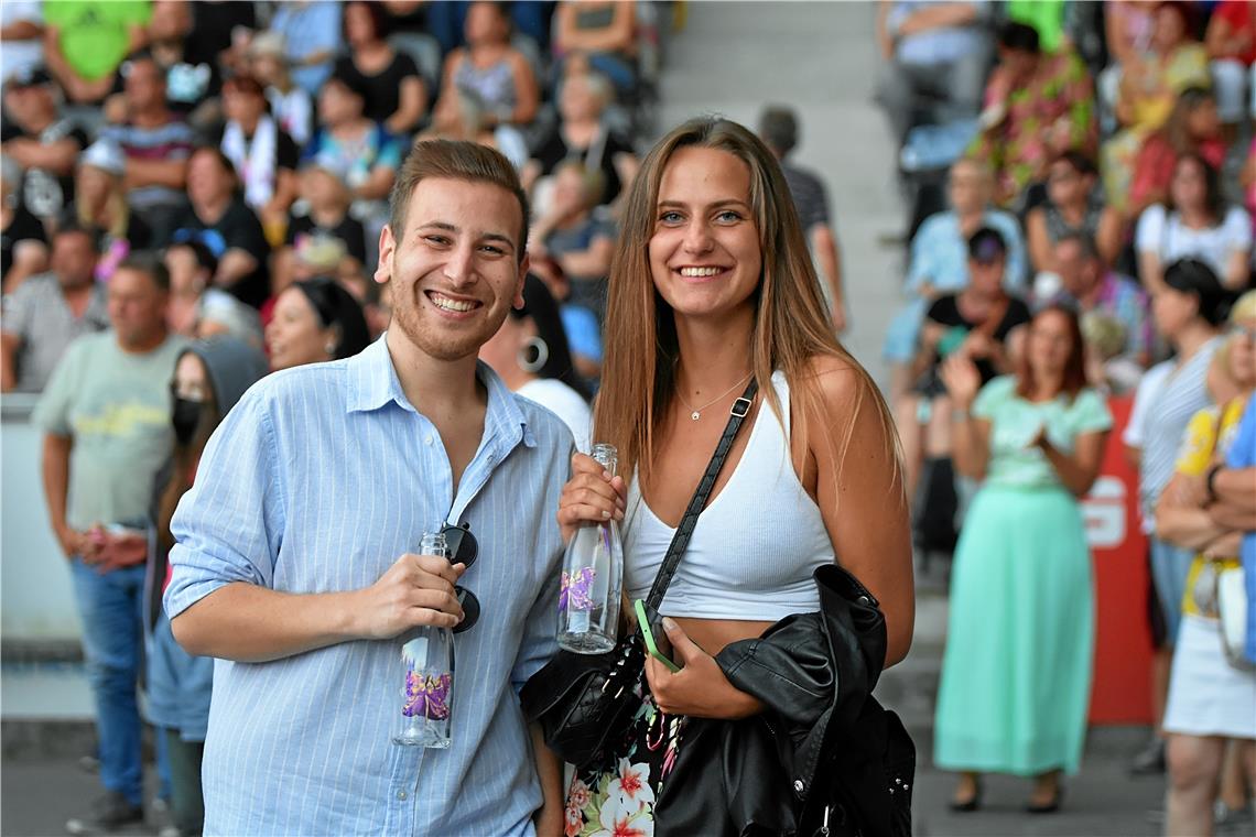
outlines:
[[1173, 167], [1168, 202], [1138, 218], [1134, 248], [1139, 279], [1152, 294], [1164, 284], [1164, 265], [1178, 259], [1198, 259], [1227, 289], [1241, 290], [1251, 276], [1251, 220], [1242, 207], [1226, 207], [1217, 169], [1191, 152]]

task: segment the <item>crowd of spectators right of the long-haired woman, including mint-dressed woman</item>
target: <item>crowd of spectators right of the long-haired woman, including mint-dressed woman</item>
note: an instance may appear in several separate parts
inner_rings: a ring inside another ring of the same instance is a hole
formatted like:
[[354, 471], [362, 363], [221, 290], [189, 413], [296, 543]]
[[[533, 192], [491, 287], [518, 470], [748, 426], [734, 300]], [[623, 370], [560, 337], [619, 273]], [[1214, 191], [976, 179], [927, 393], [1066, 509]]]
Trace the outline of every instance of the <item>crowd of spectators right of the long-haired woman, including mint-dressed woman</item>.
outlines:
[[1094, 594], [1089, 563], [1051, 550], [1084, 552], [1076, 499], [1113, 425], [1095, 394], [1133, 397], [1159, 648], [1133, 769], [1167, 762], [1168, 833], [1211, 833], [1232, 740], [1217, 811], [1250, 829], [1256, 674], [1222, 658], [1213, 594], [1251, 526], [1223, 491], [1167, 486], [1248, 456], [1230, 445], [1256, 338], [1256, 5], [883, 0], [877, 36], [902, 182], [950, 166], [950, 206], [914, 213], [884, 354], [917, 543], [958, 537], [936, 728], [952, 807], [1009, 772], [1054, 811], [1076, 769]]

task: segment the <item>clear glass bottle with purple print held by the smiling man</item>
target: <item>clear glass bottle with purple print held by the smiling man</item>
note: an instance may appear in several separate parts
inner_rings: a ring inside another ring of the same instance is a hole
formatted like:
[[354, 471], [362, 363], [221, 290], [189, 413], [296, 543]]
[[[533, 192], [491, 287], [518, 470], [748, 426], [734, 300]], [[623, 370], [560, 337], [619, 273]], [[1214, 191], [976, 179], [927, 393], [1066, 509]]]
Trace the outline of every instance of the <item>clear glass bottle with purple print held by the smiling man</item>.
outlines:
[[[441, 533], [428, 532], [421, 555], [450, 557]], [[453, 631], [425, 625], [408, 634], [401, 646], [404, 680], [401, 706], [393, 722], [393, 743], [406, 747], [450, 745], [450, 710], [453, 691]]]

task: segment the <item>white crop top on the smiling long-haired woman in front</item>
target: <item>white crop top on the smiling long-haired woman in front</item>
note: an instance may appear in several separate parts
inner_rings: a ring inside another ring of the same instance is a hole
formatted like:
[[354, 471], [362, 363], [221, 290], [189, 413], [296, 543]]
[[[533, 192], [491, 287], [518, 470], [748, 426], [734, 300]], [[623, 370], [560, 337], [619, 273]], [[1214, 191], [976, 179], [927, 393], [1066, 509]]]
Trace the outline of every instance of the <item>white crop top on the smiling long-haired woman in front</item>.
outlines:
[[[789, 384], [772, 375], [785, 425], [762, 404], [732, 476], [698, 516], [690, 546], [659, 614], [696, 619], [776, 621], [820, 609], [811, 573], [833, 563], [820, 509], [794, 472], [789, 447]], [[654, 584], [676, 530], [628, 486], [624, 585], [631, 600]]]

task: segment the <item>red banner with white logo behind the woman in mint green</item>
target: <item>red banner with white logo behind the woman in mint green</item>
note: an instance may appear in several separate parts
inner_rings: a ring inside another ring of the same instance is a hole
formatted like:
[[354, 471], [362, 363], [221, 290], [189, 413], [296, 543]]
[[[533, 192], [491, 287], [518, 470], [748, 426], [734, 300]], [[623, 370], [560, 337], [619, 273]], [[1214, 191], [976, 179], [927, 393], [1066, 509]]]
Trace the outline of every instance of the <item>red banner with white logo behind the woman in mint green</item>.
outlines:
[[1139, 528], [1138, 471], [1120, 440], [1132, 405], [1132, 398], [1108, 403], [1113, 428], [1103, 468], [1083, 501], [1095, 575], [1093, 724], [1152, 720], [1147, 537]]

